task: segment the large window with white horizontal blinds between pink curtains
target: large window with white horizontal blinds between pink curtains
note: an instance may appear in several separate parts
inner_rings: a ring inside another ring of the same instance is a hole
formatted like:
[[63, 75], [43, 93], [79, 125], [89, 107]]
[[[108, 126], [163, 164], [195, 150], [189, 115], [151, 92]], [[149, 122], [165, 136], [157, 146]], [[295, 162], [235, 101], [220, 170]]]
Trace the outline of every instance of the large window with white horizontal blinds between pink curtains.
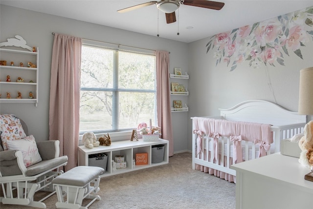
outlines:
[[156, 56], [83, 44], [80, 133], [156, 124]]

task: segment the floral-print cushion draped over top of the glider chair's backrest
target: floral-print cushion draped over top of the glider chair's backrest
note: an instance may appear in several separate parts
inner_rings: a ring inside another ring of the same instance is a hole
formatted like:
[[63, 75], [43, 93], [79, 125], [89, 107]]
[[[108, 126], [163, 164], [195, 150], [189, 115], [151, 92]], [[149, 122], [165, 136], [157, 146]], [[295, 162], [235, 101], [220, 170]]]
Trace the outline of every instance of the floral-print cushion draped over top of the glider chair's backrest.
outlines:
[[15, 115], [0, 115], [0, 137], [2, 147], [7, 150], [6, 141], [22, 139], [26, 137], [20, 119]]

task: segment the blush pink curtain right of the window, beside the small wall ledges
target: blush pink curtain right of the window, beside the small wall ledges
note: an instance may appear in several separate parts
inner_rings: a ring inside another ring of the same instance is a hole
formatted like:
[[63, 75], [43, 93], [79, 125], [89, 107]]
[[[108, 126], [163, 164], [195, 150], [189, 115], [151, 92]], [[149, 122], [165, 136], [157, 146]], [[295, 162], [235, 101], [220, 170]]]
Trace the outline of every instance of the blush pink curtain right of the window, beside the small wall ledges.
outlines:
[[169, 141], [169, 156], [174, 155], [172, 113], [169, 81], [169, 52], [156, 51], [156, 110], [162, 139]]

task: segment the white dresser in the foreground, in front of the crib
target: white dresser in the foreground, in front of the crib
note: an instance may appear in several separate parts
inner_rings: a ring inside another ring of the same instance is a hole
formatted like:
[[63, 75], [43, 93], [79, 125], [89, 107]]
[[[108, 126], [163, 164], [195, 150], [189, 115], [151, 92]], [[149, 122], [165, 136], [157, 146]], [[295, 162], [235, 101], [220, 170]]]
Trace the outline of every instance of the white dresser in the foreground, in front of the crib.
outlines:
[[313, 209], [313, 182], [298, 158], [268, 155], [230, 166], [236, 170], [236, 209]]

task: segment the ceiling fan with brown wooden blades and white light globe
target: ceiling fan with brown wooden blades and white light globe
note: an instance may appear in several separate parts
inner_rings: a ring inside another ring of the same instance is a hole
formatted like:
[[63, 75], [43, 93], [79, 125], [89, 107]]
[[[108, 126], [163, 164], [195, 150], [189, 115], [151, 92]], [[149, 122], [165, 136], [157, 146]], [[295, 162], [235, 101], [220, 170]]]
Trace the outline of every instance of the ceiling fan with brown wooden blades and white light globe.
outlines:
[[156, 7], [165, 13], [166, 23], [175, 23], [176, 15], [175, 11], [179, 8], [180, 4], [188, 6], [197, 6], [207, 9], [220, 10], [224, 6], [224, 2], [217, 2], [211, 0], [160, 0], [141, 3], [131, 7], [117, 10], [117, 12], [129, 12], [135, 9], [139, 9], [145, 6], [156, 4]]

